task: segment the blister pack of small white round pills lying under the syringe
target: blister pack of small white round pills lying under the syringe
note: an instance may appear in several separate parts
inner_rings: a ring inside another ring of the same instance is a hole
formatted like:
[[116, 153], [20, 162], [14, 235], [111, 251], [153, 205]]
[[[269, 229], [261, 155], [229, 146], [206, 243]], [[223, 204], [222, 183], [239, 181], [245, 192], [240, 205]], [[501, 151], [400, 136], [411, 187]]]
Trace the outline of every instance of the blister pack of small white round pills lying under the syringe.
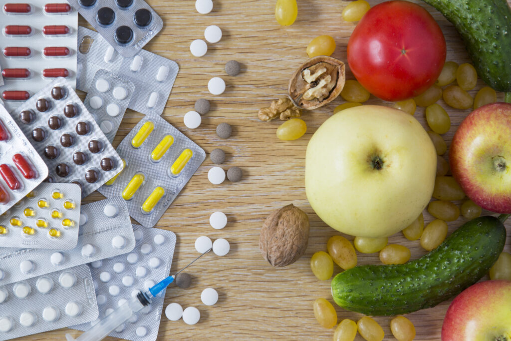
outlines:
[[[169, 276], [176, 235], [160, 229], [143, 229], [133, 225], [136, 245], [128, 255], [104, 259], [90, 264], [92, 279], [97, 283], [96, 300], [99, 306], [99, 319], [129, 300], [142, 289], [149, 289]], [[142, 313], [131, 316], [110, 336], [133, 341], [154, 341], [158, 336], [159, 321], [163, 308], [163, 297], [142, 309]], [[92, 322], [94, 324], [95, 322]], [[90, 324], [70, 327], [87, 330]]]

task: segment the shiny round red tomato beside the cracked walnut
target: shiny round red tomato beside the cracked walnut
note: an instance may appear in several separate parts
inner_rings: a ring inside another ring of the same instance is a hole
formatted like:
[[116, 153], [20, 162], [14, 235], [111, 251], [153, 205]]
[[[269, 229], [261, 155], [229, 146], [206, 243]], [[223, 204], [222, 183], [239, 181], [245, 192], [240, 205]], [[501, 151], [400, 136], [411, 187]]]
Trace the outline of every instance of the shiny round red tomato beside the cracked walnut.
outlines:
[[435, 19], [419, 5], [388, 1], [371, 8], [355, 27], [348, 63], [371, 94], [400, 101], [425, 92], [446, 59], [446, 41]]

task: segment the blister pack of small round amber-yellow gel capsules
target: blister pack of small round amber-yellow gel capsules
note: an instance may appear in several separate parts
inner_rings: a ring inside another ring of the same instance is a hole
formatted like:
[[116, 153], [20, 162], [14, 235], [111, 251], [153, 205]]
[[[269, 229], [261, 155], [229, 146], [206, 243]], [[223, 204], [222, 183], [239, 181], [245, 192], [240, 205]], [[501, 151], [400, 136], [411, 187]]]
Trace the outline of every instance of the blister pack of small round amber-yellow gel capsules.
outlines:
[[74, 248], [80, 201], [76, 184], [40, 184], [0, 215], [0, 247]]

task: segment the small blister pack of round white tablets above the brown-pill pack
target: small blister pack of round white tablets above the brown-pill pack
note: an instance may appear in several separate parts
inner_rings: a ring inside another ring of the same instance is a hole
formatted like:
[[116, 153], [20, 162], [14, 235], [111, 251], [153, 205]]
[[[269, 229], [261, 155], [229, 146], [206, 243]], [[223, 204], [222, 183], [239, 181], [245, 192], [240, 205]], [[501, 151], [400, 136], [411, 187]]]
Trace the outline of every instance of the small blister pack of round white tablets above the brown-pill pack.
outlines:
[[135, 85], [123, 75], [98, 70], [83, 102], [112, 142], [133, 95]]

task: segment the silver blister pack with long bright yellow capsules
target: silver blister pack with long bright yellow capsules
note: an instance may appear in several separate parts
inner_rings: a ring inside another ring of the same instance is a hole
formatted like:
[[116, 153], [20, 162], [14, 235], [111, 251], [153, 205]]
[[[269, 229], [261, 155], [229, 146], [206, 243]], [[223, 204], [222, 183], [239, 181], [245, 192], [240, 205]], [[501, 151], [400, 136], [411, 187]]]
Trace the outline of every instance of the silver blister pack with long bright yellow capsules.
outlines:
[[107, 198], [121, 195], [136, 221], [156, 224], [204, 161], [206, 153], [159, 116], [146, 116], [117, 147], [126, 166], [99, 188]]

